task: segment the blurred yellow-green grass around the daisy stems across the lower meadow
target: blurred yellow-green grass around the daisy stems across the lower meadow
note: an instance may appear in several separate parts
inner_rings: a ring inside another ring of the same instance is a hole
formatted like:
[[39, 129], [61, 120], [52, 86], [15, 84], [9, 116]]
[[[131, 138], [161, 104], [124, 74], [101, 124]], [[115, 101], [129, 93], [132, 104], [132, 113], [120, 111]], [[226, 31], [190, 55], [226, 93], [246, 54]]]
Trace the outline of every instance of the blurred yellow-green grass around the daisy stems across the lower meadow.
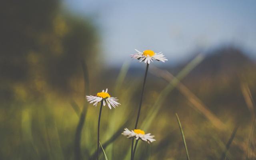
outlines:
[[[232, 135], [230, 128], [234, 128], [235, 124], [232, 120], [232, 115], [230, 115], [230, 121], [225, 122], [226, 129], [222, 130], [221, 128], [216, 128], [216, 125], [211, 125], [211, 121], [205, 121], [205, 117], [195, 112], [194, 109], [190, 109], [188, 104], [182, 108], [184, 104], [175, 101], [175, 94], [177, 92], [182, 93], [179, 88], [180, 85], [184, 85], [181, 83], [182, 78], [201, 60], [202, 57], [194, 59], [182, 72], [177, 74], [177, 78], [172, 79], [160, 92], [150, 91], [159, 90], [156, 87], [146, 87], [146, 90], [148, 90], [146, 97], [150, 98], [146, 98], [145, 106], [142, 106], [142, 113], [144, 114], [142, 114], [139, 126], [141, 125], [141, 128], [146, 132], [156, 135], [157, 141], [150, 145], [139, 143], [135, 159], [184, 158], [184, 155], [182, 155], [184, 152], [181, 152], [183, 144], [179, 141], [180, 133], [174, 115], [177, 111], [184, 121], [182, 122], [182, 127], [188, 133], [186, 142], [190, 146], [192, 159], [213, 160], [224, 155], [223, 153], [227, 148], [228, 150], [225, 151], [226, 159], [241, 158], [245, 157], [246, 154], [248, 154], [248, 159], [254, 158], [254, 148], [252, 146], [255, 140], [254, 131], [252, 130], [253, 121], [247, 124], [243, 122], [242, 129], [238, 130], [236, 136], [232, 138], [232, 145], [227, 147], [226, 143], [229, 142], [230, 135]], [[113, 96], [120, 99], [122, 105], [113, 110], [103, 108], [102, 112], [102, 147], [105, 149], [108, 158], [113, 160], [129, 159], [129, 156], [124, 153], [130, 153], [130, 140], [121, 136], [120, 133], [125, 127], [132, 128], [135, 120], [136, 102], [138, 102], [136, 101], [138, 99], [136, 95], [140, 92], [140, 87], [138, 87], [140, 82], [138, 80], [126, 81], [128, 68], [129, 65], [124, 64], [120, 70], [119, 78], [116, 81], [119, 89], [113, 94]], [[80, 78], [80, 81], [83, 82], [83, 78]], [[97, 84], [97, 82], [92, 83]], [[78, 82], [78, 84], [83, 83]], [[176, 87], [176, 90], [174, 90], [174, 87]], [[108, 86], [108, 88], [112, 93], [116, 86]], [[241, 90], [243, 90], [241, 94], [243, 93], [245, 102], [250, 105], [248, 110], [252, 110], [251, 108], [254, 108], [254, 106], [252, 105], [252, 96], [250, 96], [252, 94], [248, 90], [248, 86], [242, 85]], [[168, 98], [170, 91], [174, 92], [172, 100]], [[81, 90], [79, 94], [83, 95], [83, 92], [84, 90]], [[191, 90], [189, 92], [192, 94]], [[55, 92], [47, 92], [40, 99], [30, 98], [30, 91], [21, 84], [16, 87], [15, 95], [15, 100], [10, 103], [11, 105], [8, 105], [8, 109], [7, 107], [2, 107], [0, 112], [0, 136], [4, 137], [0, 140], [2, 146], [4, 146], [4, 148], [0, 148], [0, 158], [75, 159], [73, 152], [74, 135], [79, 121], [79, 113], [81, 112], [79, 106], [84, 104], [84, 96], [78, 98], [74, 96], [73, 99], [72, 95], [70, 98], [66, 98], [66, 96], [59, 96]], [[190, 96], [190, 94], [187, 94], [187, 96]], [[151, 97], [158, 98], [153, 99]], [[198, 97], [197, 99], [199, 100]], [[71, 106], [70, 103], [72, 104]], [[165, 107], [170, 103], [172, 110], [168, 110]], [[195, 105], [191, 103], [189, 98], [188, 103]], [[151, 106], [152, 104], [153, 106]], [[87, 109], [85, 125], [81, 134], [83, 159], [86, 159], [86, 149], [88, 149], [91, 157], [95, 156], [96, 151], [95, 135], [97, 128], [95, 117], [98, 114], [98, 108], [88, 106]], [[248, 135], [250, 135], [250, 140], [248, 140]], [[246, 147], [242, 143], [244, 140], [246, 140]], [[101, 158], [103, 158], [103, 155], [101, 155]]]

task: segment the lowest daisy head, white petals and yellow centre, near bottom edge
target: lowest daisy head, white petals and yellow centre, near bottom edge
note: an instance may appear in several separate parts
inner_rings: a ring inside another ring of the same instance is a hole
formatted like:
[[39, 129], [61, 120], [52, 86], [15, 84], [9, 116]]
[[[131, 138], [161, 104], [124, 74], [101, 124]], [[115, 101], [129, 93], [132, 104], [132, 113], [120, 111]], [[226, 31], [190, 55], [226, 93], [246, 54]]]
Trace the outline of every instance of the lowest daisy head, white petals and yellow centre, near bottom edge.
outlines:
[[128, 128], [124, 128], [124, 132], [122, 132], [124, 136], [127, 136], [127, 138], [134, 137], [136, 140], [141, 139], [145, 142], [154, 142], [155, 139], [154, 136], [150, 135], [151, 133], [145, 134], [143, 130], [128, 130]]

